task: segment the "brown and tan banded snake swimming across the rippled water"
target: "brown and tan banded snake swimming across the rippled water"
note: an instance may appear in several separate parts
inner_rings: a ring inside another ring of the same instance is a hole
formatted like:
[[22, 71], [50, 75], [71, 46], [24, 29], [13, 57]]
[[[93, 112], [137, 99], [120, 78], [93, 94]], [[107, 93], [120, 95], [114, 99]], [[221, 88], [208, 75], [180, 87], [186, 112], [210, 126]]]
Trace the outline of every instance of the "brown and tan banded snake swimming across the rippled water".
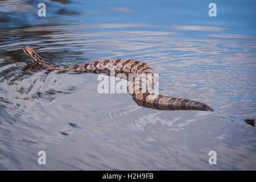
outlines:
[[[144, 92], [143, 88], [154, 85], [157, 81], [154, 69], [146, 63], [130, 59], [109, 59], [99, 60], [91, 63], [73, 65], [70, 67], [58, 66], [54, 64], [47, 64], [34, 49], [23, 46], [23, 51], [37, 64], [49, 69], [57, 69], [59, 71], [71, 72], [85, 72], [85, 73], [105, 73], [110, 75], [111, 70], [114, 69], [116, 73], [128, 75], [129, 73], [137, 74], [137, 77], [131, 82], [128, 91], [133, 96], [133, 100], [143, 107], [149, 107], [159, 110], [205, 110], [213, 111], [208, 105], [201, 102], [192, 101], [184, 98], [175, 98], [169, 96], [162, 96], [156, 93]], [[111, 75], [112, 76], [112, 75]], [[127, 76], [129, 77], [129, 76]]]

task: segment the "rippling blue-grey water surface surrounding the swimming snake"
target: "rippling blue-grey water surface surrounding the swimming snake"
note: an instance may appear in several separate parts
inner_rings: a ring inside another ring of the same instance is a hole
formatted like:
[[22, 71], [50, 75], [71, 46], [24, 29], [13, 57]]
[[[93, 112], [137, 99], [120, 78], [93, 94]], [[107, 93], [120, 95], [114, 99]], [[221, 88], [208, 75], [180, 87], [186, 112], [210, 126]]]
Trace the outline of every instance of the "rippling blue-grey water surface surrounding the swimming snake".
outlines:
[[[42, 18], [38, 3], [0, 3], [0, 169], [256, 169], [254, 1], [216, 1], [215, 18], [205, 1], [49, 1]], [[91, 73], [23, 72], [23, 45], [57, 65], [144, 61], [161, 94], [215, 112], [140, 107]]]

